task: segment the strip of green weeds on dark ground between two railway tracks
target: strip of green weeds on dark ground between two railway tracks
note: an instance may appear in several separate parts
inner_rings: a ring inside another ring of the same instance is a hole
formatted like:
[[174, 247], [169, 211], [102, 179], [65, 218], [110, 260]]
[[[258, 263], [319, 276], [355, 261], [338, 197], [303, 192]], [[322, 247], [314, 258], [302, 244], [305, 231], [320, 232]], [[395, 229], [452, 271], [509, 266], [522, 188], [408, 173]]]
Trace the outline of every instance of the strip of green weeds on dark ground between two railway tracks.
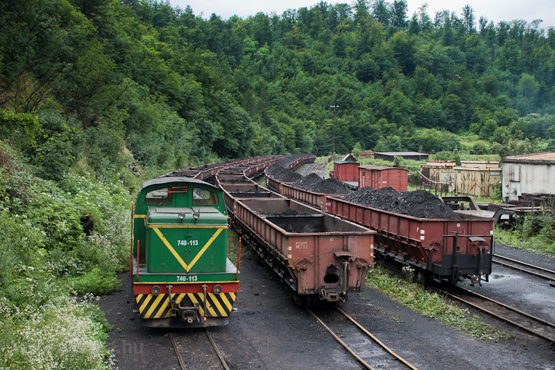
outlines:
[[450, 304], [441, 294], [410, 283], [407, 279], [390, 276], [383, 267], [371, 269], [366, 283], [368, 287], [379, 290], [393, 301], [437, 319], [443, 326], [461, 330], [468, 337], [495, 342], [511, 337], [509, 333], [495, 330], [478, 316], [472, 316], [468, 310]]

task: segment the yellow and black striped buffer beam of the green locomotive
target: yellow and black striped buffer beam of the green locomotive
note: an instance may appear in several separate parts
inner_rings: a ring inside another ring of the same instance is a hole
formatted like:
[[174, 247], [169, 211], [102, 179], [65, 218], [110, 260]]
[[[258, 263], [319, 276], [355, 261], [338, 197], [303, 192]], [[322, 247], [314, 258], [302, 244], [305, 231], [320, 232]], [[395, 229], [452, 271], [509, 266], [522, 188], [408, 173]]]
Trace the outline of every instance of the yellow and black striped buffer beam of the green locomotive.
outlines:
[[[198, 303], [198, 313], [201, 317], [228, 317], [235, 301], [234, 293], [207, 293], [206, 294], [206, 314], [204, 312], [203, 293], [182, 293], [171, 294], [180, 303], [183, 298], [189, 298], [192, 303]], [[169, 294], [138, 294], [136, 298], [139, 304], [139, 314], [142, 319], [164, 319], [171, 317], [171, 305]]]

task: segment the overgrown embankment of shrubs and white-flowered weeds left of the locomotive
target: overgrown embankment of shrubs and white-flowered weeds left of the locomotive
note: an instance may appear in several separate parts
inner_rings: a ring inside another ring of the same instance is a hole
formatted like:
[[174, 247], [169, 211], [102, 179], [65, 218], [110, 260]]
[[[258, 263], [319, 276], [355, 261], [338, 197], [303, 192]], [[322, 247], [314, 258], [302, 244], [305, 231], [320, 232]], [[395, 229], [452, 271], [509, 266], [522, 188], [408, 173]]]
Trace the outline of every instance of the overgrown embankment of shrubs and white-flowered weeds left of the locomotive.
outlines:
[[128, 266], [128, 190], [83, 164], [44, 180], [4, 142], [0, 158], [0, 368], [110, 367], [94, 295]]

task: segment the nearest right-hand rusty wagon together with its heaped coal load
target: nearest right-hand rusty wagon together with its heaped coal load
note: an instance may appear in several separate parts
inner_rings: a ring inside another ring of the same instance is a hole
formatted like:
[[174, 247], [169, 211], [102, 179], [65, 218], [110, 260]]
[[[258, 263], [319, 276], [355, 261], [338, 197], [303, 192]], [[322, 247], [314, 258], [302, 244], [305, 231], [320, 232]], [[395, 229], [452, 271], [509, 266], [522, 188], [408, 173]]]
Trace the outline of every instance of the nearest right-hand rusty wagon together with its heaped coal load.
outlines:
[[453, 211], [429, 192], [363, 187], [327, 196], [325, 210], [376, 230], [377, 255], [413, 267], [422, 283], [481, 283], [491, 274], [493, 220]]

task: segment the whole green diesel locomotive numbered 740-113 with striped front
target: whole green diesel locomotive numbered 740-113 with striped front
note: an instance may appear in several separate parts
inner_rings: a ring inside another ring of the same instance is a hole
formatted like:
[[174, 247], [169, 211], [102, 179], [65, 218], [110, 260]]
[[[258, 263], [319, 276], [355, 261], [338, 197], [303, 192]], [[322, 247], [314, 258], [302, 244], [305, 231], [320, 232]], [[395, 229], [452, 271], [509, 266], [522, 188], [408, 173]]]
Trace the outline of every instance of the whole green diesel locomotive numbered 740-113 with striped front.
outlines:
[[229, 231], [219, 188], [184, 176], [142, 184], [130, 274], [144, 326], [228, 323], [239, 289], [239, 269], [228, 258]]

